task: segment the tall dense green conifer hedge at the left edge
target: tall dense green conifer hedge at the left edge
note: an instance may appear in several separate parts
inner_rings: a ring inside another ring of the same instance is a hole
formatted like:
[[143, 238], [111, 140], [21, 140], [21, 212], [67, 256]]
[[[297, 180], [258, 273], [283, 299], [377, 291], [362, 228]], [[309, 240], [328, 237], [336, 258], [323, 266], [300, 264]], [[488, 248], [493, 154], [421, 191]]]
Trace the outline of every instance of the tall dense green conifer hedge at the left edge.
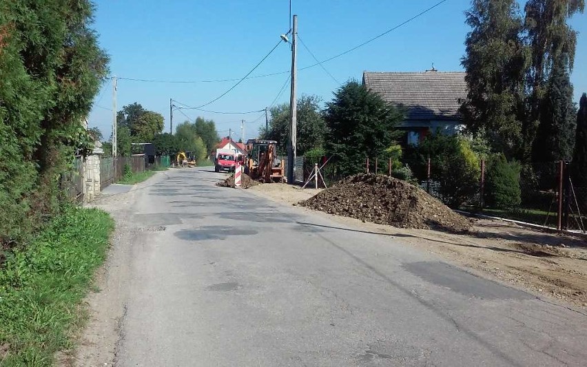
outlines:
[[92, 148], [83, 119], [108, 62], [92, 12], [87, 0], [0, 2], [0, 247], [61, 209], [59, 176]]

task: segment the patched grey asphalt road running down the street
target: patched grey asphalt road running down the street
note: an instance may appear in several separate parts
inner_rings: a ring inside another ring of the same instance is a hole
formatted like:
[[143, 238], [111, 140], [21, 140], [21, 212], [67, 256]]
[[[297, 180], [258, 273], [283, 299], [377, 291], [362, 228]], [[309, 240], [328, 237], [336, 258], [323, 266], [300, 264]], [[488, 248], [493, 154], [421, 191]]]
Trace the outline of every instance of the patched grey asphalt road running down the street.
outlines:
[[586, 315], [223, 176], [169, 170], [119, 204], [116, 366], [586, 366]]

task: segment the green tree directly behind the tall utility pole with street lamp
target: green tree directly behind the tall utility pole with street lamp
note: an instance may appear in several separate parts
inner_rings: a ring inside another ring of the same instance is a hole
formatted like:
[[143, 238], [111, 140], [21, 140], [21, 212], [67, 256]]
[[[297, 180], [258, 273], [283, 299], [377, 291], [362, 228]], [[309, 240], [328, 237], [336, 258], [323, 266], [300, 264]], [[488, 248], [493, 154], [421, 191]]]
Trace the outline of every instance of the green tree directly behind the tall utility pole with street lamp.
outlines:
[[[305, 155], [312, 149], [321, 149], [324, 145], [326, 123], [320, 112], [320, 97], [302, 95], [297, 103], [298, 136], [296, 140], [296, 154]], [[265, 139], [276, 140], [278, 152], [287, 154], [289, 141], [289, 105], [283, 103], [269, 109], [271, 120], [269, 131], [261, 129], [261, 136]]]

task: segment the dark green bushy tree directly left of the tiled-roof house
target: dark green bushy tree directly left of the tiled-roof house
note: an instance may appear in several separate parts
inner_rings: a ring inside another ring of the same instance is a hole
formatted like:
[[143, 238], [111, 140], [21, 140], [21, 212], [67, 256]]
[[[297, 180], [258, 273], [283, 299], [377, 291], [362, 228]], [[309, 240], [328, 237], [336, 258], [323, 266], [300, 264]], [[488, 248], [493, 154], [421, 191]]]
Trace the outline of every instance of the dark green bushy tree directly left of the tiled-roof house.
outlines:
[[398, 134], [395, 125], [404, 118], [397, 107], [357, 81], [349, 81], [327, 103], [325, 121], [327, 154], [336, 158], [340, 174], [363, 170], [365, 158], [384, 158]]

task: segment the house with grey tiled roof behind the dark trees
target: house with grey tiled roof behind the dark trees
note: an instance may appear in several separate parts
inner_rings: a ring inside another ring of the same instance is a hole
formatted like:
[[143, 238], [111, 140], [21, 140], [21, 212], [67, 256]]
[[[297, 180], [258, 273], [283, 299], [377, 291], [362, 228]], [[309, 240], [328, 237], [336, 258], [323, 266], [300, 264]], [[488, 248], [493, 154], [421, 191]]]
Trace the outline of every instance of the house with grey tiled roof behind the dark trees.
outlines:
[[466, 98], [464, 72], [363, 72], [363, 85], [385, 101], [404, 107], [398, 126], [406, 131], [407, 144], [418, 144], [431, 132], [455, 134], [462, 129], [459, 113]]

